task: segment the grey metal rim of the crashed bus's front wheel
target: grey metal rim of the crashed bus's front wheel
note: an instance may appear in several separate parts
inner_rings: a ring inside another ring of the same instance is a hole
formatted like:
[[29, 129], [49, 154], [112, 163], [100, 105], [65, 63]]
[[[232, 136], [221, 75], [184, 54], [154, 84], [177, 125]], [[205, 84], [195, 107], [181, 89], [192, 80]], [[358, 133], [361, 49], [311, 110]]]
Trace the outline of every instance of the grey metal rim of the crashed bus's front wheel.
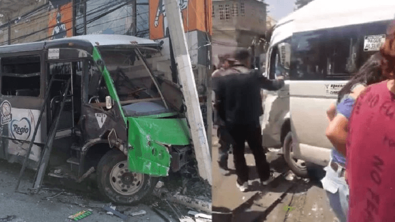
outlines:
[[142, 187], [144, 175], [130, 172], [126, 161], [116, 164], [110, 173], [110, 184], [113, 189], [122, 195], [132, 195]]

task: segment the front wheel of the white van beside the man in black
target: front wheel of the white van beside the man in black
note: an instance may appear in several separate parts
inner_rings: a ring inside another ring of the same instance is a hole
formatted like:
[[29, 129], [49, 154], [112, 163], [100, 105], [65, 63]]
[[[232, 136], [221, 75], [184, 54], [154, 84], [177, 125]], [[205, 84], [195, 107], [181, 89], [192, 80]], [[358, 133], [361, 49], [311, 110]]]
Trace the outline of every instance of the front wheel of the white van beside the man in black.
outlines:
[[295, 159], [293, 154], [292, 133], [288, 132], [284, 138], [284, 159], [288, 166], [297, 176], [308, 177], [306, 163], [303, 160]]

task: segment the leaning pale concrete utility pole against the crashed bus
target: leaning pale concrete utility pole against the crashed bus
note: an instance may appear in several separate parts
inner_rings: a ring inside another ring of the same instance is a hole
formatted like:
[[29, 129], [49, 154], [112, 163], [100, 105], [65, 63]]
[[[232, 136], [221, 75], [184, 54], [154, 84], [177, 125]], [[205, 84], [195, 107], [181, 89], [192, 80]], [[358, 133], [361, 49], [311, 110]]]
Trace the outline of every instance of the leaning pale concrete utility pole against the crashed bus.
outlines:
[[172, 39], [174, 58], [178, 69], [179, 84], [182, 87], [181, 89], [187, 107], [187, 119], [190, 125], [197, 167], [199, 168], [200, 176], [207, 179], [208, 183], [211, 185], [211, 155], [196, 91], [191, 59], [188, 53], [183, 19], [177, 0], [164, 0], [164, 2], [170, 37]]

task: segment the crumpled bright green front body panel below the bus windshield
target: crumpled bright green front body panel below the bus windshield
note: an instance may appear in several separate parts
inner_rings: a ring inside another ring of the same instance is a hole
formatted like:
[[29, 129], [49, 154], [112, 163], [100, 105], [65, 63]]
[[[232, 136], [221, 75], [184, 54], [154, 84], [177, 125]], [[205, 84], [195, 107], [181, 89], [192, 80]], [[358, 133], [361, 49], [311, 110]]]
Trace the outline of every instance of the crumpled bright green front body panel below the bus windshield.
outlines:
[[167, 176], [171, 155], [165, 145], [189, 145], [186, 119], [128, 117], [129, 170]]

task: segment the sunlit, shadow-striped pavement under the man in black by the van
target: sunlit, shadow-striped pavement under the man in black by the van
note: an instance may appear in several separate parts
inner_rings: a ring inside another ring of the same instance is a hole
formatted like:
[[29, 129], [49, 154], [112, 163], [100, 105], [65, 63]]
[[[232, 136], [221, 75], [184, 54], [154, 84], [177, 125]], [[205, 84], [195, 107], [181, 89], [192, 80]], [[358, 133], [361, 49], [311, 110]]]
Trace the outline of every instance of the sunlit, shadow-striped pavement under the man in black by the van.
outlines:
[[[215, 132], [215, 131], [213, 131]], [[266, 187], [257, 186], [255, 161], [252, 154], [245, 154], [247, 165], [250, 167], [249, 178], [252, 190], [242, 193], [236, 187], [236, 175], [222, 175], [218, 164], [218, 138], [213, 135], [213, 221], [256, 221], [256, 222], [334, 222], [333, 214], [327, 201], [326, 193], [319, 181], [310, 181], [289, 175], [282, 156], [271, 149], [267, 159], [271, 167], [278, 172], [277, 178]], [[229, 155], [228, 166], [235, 169], [232, 155]], [[282, 174], [280, 174], [282, 173]], [[290, 206], [293, 210], [286, 211]], [[224, 212], [229, 211], [229, 214]], [[218, 218], [216, 220], [216, 218]]]

